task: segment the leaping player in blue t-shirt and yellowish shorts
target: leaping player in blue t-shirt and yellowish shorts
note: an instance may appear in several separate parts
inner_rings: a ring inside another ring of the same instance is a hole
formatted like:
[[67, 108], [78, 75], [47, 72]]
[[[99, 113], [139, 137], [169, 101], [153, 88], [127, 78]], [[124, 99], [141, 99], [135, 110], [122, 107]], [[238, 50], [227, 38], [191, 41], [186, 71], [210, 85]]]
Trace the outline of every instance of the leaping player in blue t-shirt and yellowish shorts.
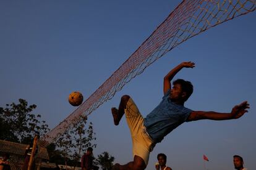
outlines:
[[231, 113], [218, 113], [215, 111], [192, 111], [184, 107], [184, 103], [193, 92], [193, 85], [184, 79], [171, 80], [182, 68], [194, 68], [193, 62], [182, 62], [169, 71], [164, 77], [163, 92], [164, 97], [160, 104], [143, 118], [139, 109], [129, 95], [123, 95], [119, 108], [111, 108], [114, 124], [117, 126], [124, 113], [126, 113], [127, 124], [132, 136], [132, 151], [134, 160], [127, 164], [115, 164], [113, 169], [145, 169], [148, 158], [153, 147], [164, 136], [173, 131], [177, 126], [185, 121], [197, 121], [200, 119], [226, 120], [237, 119], [244, 115], [249, 108], [249, 103], [242, 102], [233, 107]]

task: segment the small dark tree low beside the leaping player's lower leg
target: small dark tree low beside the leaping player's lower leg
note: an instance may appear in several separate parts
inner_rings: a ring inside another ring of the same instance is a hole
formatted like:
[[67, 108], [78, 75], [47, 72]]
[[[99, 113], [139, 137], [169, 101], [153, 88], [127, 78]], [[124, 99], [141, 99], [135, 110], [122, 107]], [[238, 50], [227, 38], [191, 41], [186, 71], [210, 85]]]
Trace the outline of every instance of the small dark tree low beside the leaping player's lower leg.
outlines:
[[101, 166], [103, 170], [110, 170], [113, 166], [114, 157], [109, 155], [108, 152], [103, 152], [101, 155], [98, 155], [96, 163]]

